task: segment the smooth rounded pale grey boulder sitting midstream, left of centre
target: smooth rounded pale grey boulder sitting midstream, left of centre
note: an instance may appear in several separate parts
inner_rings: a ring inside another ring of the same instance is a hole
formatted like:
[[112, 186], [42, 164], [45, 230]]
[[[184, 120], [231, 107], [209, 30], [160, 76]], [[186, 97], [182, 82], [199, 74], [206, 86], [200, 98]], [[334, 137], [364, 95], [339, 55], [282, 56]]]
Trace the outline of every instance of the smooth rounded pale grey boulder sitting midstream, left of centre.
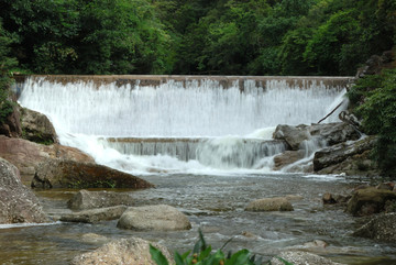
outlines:
[[120, 218], [118, 228], [138, 231], [189, 230], [188, 218], [176, 208], [165, 205], [130, 207]]

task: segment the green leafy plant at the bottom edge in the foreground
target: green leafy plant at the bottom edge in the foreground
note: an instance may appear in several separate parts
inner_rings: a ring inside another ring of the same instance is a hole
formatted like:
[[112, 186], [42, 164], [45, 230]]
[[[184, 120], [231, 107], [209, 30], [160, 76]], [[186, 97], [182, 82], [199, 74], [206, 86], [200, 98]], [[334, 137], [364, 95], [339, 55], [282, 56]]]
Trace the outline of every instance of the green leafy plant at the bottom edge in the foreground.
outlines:
[[[227, 243], [229, 243], [228, 241]], [[227, 245], [224, 244], [224, 246]], [[223, 247], [224, 247], [223, 246]], [[221, 247], [221, 249], [223, 249]], [[255, 256], [252, 255], [248, 250], [241, 250], [235, 253], [229, 253], [226, 255], [222, 250], [212, 252], [212, 247], [208, 245], [204, 239], [202, 232], [199, 230], [199, 241], [195, 244], [193, 254], [191, 251], [188, 251], [184, 254], [175, 253], [175, 264], [176, 265], [260, 265], [263, 264], [261, 260], [255, 260]], [[155, 249], [153, 245], [150, 245], [150, 254], [153, 261], [157, 265], [168, 265], [168, 261], [164, 254]], [[292, 263], [277, 257], [285, 265], [293, 265]], [[271, 264], [271, 263], [270, 263]]]

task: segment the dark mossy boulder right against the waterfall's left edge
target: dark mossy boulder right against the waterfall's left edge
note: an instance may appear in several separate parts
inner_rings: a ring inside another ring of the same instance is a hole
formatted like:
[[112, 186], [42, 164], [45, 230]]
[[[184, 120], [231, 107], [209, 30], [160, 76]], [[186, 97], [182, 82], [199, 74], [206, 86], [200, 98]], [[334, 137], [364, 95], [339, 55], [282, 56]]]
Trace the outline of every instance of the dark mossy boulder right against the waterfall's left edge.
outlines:
[[21, 108], [22, 137], [35, 143], [58, 143], [54, 125], [50, 119], [37, 111]]

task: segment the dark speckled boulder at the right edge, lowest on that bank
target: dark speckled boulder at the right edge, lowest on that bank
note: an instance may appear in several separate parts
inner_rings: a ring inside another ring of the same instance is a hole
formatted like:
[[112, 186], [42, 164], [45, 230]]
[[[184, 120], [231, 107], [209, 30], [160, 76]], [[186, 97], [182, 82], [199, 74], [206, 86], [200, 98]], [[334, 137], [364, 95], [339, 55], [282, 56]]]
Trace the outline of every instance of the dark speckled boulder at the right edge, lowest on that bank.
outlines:
[[353, 235], [396, 243], [396, 212], [375, 217]]

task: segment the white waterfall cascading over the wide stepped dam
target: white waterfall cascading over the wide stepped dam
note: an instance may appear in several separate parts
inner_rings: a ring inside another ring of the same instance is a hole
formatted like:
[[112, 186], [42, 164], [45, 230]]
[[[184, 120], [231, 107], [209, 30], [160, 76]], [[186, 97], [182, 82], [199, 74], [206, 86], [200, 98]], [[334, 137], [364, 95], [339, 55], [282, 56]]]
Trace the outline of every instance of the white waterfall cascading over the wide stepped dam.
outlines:
[[[286, 148], [268, 141], [274, 126], [317, 122], [344, 92], [345, 81], [32, 76], [19, 101], [48, 115], [61, 143], [121, 170], [264, 170]], [[336, 120], [337, 114], [328, 119]]]

